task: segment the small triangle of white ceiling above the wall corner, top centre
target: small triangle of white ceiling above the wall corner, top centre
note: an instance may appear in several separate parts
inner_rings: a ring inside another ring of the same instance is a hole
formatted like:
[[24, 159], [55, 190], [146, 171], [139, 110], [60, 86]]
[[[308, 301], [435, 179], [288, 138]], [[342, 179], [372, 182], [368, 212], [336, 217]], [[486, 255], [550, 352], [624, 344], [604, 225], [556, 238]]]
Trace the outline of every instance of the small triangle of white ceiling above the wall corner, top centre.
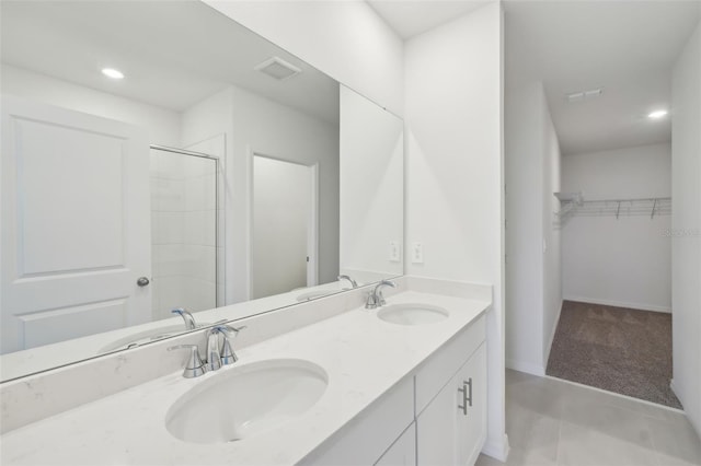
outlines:
[[495, 0], [366, 0], [406, 40]]

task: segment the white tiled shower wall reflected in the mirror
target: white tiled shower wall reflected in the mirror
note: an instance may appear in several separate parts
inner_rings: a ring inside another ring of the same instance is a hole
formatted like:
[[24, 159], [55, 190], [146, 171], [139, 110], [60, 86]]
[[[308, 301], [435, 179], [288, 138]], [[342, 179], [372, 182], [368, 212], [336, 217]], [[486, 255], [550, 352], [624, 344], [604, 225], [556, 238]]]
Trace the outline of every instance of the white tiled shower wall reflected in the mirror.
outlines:
[[151, 151], [153, 319], [216, 307], [216, 165]]

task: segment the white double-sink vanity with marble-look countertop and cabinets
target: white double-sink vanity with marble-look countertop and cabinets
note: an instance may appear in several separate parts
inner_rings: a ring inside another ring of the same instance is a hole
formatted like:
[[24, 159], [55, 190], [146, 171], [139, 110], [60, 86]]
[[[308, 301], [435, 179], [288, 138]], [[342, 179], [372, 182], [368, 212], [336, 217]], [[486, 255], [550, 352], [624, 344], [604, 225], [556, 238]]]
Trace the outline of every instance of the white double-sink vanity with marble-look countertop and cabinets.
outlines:
[[207, 364], [208, 329], [127, 350], [141, 369], [159, 360], [136, 354], [157, 346], [183, 365], [5, 432], [2, 464], [473, 464], [486, 432], [491, 287], [397, 282], [376, 308], [369, 287], [300, 303], [315, 322], [269, 338], [265, 315], [237, 321], [238, 361], [202, 375], [184, 377], [191, 353], [166, 349], [196, 342]]

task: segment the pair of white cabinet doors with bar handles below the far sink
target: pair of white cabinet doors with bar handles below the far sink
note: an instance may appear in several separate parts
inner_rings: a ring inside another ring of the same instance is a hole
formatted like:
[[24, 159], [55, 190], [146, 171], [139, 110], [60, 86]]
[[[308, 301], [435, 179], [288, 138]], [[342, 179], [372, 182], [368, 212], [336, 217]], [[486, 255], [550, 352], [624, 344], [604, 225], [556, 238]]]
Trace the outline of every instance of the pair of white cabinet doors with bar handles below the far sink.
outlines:
[[485, 387], [483, 343], [418, 416], [418, 466], [474, 464], [486, 433]]

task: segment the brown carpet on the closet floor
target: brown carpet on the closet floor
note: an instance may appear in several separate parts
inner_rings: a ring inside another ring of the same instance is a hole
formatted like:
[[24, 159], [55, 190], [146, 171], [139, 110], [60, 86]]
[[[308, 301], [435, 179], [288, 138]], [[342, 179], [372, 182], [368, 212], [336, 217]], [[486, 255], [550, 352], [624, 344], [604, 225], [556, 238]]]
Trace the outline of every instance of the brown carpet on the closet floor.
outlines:
[[681, 408], [669, 388], [671, 314], [565, 301], [547, 374]]

